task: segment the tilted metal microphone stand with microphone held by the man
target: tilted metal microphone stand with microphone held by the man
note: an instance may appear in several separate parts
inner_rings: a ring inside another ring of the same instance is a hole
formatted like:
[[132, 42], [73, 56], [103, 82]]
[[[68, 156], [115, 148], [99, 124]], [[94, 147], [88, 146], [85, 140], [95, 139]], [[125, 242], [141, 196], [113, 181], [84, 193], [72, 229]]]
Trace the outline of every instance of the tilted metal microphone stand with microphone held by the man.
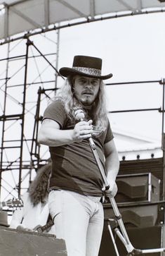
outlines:
[[[75, 117], [79, 121], [84, 121], [84, 111], [82, 109], [77, 109], [77, 111], [75, 111]], [[88, 142], [89, 142], [89, 145], [90, 145], [91, 150], [93, 152], [93, 156], [95, 157], [95, 161], [98, 164], [98, 169], [100, 171], [100, 174], [103, 178], [103, 183], [105, 185], [105, 190], [108, 190], [110, 188], [110, 185], [107, 182], [107, 176], [105, 175], [105, 171], [104, 171], [103, 166], [100, 162], [100, 158], [98, 157], [98, 152], [96, 150], [95, 142], [93, 141], [93, 138], [88, 138]], [[121, 214], [120, 214], [119, 209], [117, 207], [117, 203], [114, 200], [114, 197], [110, 197], [110, 202], [111, 202], [111, 205], [112, 205], [112, 209], [114, 211], [114, 215], [115, 215], [115, 217], [117, 219], [117, 222], [119, 224], [119, 227], [120, 227], [120, 230], [119, 230], [119, 228], [114, 228], [114, 232], [117, 234], [117, 236], [119, 237], [121, 242], [124, 244], [129, 256], [140, 255], [140, 254], [143, 254], [143, 253], [165, 252], [165, 248], [156, 248], [156, 249], [147, 249], [147, 250], [141, 250], [141, 249], [133, 248], [133, 245], [131, 244], [131, 241], [128, 238], [128, 234], [126, 232], [124, 222], [121, 219]], [[112, 243], [114, 244], [114, 250], [115, 250], [117, 256], [119, 256], [119, 251], [117, 249], [117, 245], [116, 245], [115, 240], [114, 240], [114, 235], [112, 233], [112, 228], [110, 226], [110, 219], [108, 220], [108, 229], [110, 231], [110, 236], [112, 238]]]

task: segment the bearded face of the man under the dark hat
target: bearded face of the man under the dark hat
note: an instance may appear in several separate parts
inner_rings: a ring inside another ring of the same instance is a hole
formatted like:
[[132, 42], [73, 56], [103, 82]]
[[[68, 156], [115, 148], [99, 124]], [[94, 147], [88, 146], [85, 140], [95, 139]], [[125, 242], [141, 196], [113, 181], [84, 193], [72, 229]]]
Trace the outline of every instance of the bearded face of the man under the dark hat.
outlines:
[[100, 87], [99, 78], [88, 78], [75, 75], [73, 80], [74, 95], [84, 106], [90, 106], [95, 101]]

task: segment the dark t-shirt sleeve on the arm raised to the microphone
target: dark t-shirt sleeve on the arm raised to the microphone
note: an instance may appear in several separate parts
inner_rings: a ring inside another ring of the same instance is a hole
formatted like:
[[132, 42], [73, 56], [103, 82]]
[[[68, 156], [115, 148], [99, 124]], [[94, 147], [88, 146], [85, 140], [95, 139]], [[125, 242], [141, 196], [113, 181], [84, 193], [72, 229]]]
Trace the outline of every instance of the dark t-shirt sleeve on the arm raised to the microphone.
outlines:
[[67, 118], [64, 104], [62, 104], [60, 100], [56, 100], [55, 102], [52, 102], [50, 105], [48, 105], [44, 111], [42, 121], [46, 118], [58, 122], [62, 128]]

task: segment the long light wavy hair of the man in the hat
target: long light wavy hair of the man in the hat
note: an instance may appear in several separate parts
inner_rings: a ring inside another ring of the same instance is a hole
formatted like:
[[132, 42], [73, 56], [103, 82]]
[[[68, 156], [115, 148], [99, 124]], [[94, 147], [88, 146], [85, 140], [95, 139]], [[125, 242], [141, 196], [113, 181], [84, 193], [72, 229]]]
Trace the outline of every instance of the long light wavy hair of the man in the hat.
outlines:
[[[103, 83], [103, 80], [100, 80], [98, 96], [95, 99], [92, 110], [90, 111], [91, 118], [93, 119], [93, 124], [100, 130], [105, 130], [105, 128], [107, 127], [107, 110], [105, 106], [104, 87], [105, 84]], [[74, 92], [72, 88], [73, 76], [70, 76], [65, 80], [64, 85], [60, 87], [55, 97], [55, 99], [60, 99], [63, 102], [65, 106], [65, 111], [71, 120], [74, 119], [74, 109], [83, 109], [81, 102], [79, 102], [77, 98], [74, 97]], [[84, 111], [86, 112], [86, 110]]]

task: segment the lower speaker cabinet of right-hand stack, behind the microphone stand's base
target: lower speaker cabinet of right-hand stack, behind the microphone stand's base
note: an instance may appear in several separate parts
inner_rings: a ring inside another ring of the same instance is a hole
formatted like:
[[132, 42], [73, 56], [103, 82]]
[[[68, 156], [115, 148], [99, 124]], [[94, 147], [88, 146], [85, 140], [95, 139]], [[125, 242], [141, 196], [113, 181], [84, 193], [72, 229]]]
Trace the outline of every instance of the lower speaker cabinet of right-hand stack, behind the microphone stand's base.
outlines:
[[[116, 256], [114, 244], [108, 229], [108, 223], [114, 232], [114, 228], [119, 228], [114, 211], [110, 204], [104, 204], [105, 224], [103, 229], [103, 238], [100, 245], [99, 256]], [[164, 209], [165, 202], [122, 202], [118, 203], [124, 226], [128, 233], [128, 238], [134, 248], [155, 249], [164, 248], [165, 245], [165, 226]], [[114, 234], [119, 255], [126, 256], [128, 252], [121, 243], [119, 237]], [[162, 256], [162, 252], [150, 253], [150, 256]], [[147, 253], [139, 254], [147, 256]]]

